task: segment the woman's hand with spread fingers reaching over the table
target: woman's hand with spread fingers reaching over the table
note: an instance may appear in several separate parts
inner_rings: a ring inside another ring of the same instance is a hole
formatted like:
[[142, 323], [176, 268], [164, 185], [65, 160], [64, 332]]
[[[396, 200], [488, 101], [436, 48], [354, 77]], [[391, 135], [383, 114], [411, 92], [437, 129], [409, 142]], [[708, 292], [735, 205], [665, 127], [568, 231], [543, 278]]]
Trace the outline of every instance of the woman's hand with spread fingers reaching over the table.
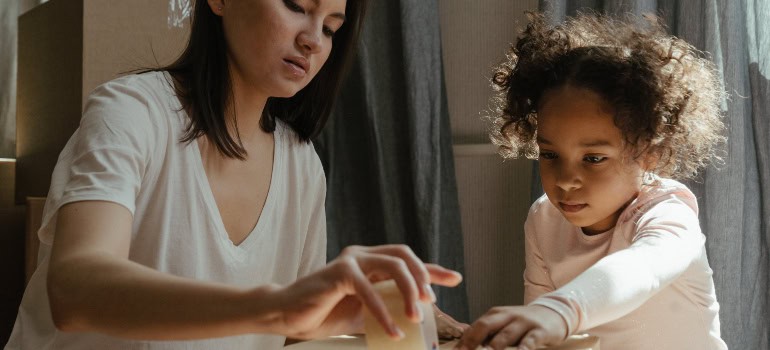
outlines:
[[351, 246], [323, 269], [276, 290], [281, 321], [276, 333], [310, 339], [363, 329], [362, 307], [394, 339], [402, 336], [373, 283], [393, 279], [404, 296], [406, 315], [419, 321], [417, 302], [435, 301], [430, 283], [456, 286], [462, 276], [424, 264], [405, 245]]

